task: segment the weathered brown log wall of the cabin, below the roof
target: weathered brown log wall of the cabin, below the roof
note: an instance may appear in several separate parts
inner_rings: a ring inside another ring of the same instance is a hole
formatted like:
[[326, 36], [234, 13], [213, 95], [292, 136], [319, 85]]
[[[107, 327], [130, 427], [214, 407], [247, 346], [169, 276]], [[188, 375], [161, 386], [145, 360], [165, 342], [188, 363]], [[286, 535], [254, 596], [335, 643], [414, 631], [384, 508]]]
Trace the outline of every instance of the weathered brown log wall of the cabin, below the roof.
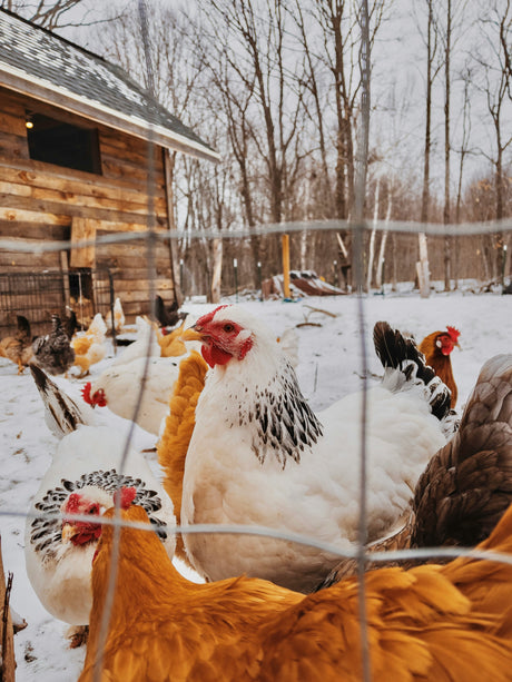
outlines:
[[[37, 111], [69, 123], [98, 129], [102, 175], [36, 161], [29, 157], [26, 111]], [[164, 154], [154, 149], [155, 228], [169, 229]], [[148, 225], [148, 144], [107, 126], [96, 125], [63, 110], [0, 88], [0, 237], [23, 246], [65, 241], [79, 246], [96, 234], [140, 233], [140, 240], [97, 245], [76, 257], [59, 250], [31, 254], [0, 250], [0, 271], [59, 270], [62, 263], [80, 265], [87, 253], [92, 267], [109, 267], [129, 322], [149, 312], [149, 274], [142, 239]], [[78, 240], [77, 240], [78, 235]], [[174, 276], [167, 241], [156, 245], [156, 289], [174, 298]]]

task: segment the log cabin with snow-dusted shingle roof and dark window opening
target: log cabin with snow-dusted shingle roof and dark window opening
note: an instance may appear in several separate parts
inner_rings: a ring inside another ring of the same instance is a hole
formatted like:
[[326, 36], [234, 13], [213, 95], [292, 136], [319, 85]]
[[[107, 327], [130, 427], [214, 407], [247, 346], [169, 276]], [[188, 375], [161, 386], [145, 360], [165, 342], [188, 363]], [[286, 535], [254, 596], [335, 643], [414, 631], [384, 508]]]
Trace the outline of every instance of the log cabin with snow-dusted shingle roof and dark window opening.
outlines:
[[180, 303], [173, 240], [148, 259], [144, 238], [175, 228], [169, 150], [218, 160], [122, 69], [0, 10], [0, 333], [33, 309], [29, 289], [47, 294], [37, 308], [59, 307], [48, 278], [92, 308], [108, 279], [129, 322], [149, 312], [151, 278]]

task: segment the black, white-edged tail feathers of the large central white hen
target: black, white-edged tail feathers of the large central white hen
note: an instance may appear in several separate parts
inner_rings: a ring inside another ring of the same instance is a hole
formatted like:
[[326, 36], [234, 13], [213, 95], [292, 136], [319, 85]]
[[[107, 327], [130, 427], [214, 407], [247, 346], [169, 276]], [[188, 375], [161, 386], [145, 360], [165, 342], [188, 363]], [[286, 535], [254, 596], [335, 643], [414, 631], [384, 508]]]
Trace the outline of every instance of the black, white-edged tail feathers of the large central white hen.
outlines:
[[398, 329], [392, 329], [386, 322], [377, 322], [373, 340], [375, 352], [386, 370], [384, 384], [391, 391], [398, 391], [404, 384], [423, 384], [432, 414], [440, 421], [447, 418], [450, 388], [436, 376], [434, 369], [425, 364], [425, 356], [419, 350], [414, 339], [405, 337]]

